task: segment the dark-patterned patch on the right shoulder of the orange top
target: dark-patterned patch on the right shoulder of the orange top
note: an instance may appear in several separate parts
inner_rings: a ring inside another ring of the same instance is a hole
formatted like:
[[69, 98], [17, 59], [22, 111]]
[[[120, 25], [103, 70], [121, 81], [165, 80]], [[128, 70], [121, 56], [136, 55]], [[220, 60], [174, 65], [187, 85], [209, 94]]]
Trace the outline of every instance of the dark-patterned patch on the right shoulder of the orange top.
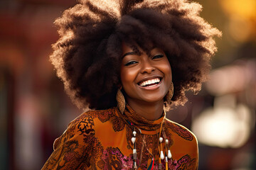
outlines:
[[186, 128], [185, 126], [175, 123], [174, 121], [171, 121], [167, 118], [165, 119], [165, 123], [167, 128], [171, 129], [179, 137], [183, 138], [183, 140], [191, 142], [194, 141], [197, 145], [196, 135], [194, 135], [191, 130], [188, 130], [188, 128]]

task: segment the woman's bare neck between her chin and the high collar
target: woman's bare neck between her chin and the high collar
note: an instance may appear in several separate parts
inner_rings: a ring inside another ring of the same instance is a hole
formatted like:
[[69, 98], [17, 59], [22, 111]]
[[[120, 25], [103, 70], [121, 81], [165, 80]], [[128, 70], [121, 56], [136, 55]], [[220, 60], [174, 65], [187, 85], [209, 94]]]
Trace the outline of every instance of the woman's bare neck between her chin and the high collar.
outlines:
[[146, 120], [157, 120], [161, 117], [164, 111], [164, 100], [154, 103], [127, 101], [129, 106]]

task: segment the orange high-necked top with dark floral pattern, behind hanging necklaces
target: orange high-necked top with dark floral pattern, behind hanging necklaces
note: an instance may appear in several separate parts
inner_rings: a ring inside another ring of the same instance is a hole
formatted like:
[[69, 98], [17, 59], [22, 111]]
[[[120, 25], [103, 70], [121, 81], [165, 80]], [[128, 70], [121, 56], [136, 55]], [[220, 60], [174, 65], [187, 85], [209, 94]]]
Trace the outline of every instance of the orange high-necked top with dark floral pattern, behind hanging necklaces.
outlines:
[[[130, 106], [124, 114], [110, 108], [87, 111], [73, 120], [55, 140], [54, 151], [42, 169], [132, 169], [134, 129], [138, 169], [147, 169], [152, 155], [156, 160], [153, 169], [159, 169], [159, 152], [165, 152], [165, 142], [159, 145], [162, 122], [161, 137], [169, 140], [172, 154], [168, 169], [198, 169], [198, 143], [192, 132], [164, 114], [159, 120], [146, 120]], [[161, 163], [166, 169], [165, 161]]]

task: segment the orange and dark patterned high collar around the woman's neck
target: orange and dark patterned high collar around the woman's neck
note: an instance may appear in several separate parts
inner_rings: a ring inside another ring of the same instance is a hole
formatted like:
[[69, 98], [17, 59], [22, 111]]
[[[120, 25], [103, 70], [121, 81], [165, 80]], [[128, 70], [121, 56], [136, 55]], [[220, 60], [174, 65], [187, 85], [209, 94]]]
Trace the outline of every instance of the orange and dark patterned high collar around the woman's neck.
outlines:
[[143, 134], [154, 135], [160, 131], [161, 123], [164, 122], [165, 112], [163, 112], [161, 118], [157, 120], [146, 120], [142, 115], [136, 113], [131, 106], [126, 105], [122, 117], [129, 123], [129, 125], [139, 128]]

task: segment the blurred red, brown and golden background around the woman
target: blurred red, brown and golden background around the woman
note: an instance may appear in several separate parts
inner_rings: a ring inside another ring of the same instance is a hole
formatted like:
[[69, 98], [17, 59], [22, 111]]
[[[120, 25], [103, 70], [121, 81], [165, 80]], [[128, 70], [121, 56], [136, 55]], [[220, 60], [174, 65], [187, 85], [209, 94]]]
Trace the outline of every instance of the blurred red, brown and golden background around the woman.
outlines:
[[[256, 0], [198, 0], [223, 32], [210, 81], [168, 118], [198, 137], [199, 169], [256, 169]], [[75, 0], [0, 1], [0, 169], [41, 169], [81, 110], [49, 62], [55, 18]]]

